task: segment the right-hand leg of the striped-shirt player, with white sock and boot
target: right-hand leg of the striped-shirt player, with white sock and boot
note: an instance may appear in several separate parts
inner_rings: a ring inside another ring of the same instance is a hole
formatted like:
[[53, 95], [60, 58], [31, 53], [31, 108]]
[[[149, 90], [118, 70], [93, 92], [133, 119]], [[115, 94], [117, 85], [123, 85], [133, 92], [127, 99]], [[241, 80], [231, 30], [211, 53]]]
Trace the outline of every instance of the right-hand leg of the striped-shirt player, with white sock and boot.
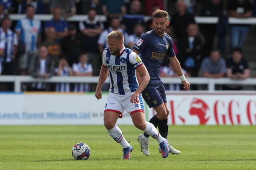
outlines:
[[[154, 125], [152, 123], [145, 121], [145, 115], [141, 111], [133, 113], [131, 115], [131, 117], [132, 117], [132, 122], [135, 125], [135, 127], [144, 131], [145, 133], [147, 133], [148, 135], [150, 135], [151, 137], [153, 137], [154, 139], [156, 139], [158, 141], [159, 146], [161, 148], [162, 157], [166, 158], [168, 156], [170, 150], [169, 150], [167, 141], [164, 140], [164, 138], [159, 134], [159, 132], [156, 130], [156, 127], [154, 127]], [[142, 145], [140, 144], [140, 146], [142, 146]], [[141, 149], [141, 151], [142, 151], [142, 149]], [[149, 155], [149, 152], [148, 152], [148, 155]]]

